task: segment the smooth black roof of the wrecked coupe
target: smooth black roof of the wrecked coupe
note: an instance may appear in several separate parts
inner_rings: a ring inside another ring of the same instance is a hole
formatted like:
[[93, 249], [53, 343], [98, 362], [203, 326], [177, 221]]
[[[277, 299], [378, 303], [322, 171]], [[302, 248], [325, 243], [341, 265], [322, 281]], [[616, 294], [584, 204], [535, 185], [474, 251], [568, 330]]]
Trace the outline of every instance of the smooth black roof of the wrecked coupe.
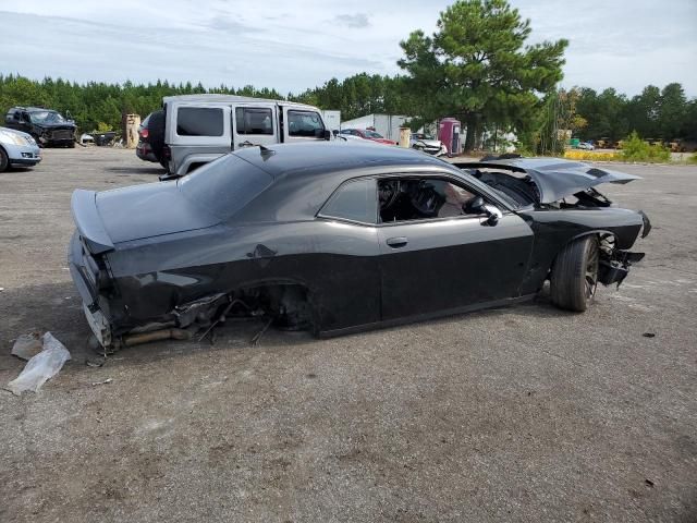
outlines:
[[248, 147], [236, 153], [242, 159], [269, 173], [274, 179], [291, 173], [323, 173], [366, 167], [433, 166], [445, 170], [454, 168], [438, 158], [416, 150], [363, 144], [360, 142], [303, 142]]

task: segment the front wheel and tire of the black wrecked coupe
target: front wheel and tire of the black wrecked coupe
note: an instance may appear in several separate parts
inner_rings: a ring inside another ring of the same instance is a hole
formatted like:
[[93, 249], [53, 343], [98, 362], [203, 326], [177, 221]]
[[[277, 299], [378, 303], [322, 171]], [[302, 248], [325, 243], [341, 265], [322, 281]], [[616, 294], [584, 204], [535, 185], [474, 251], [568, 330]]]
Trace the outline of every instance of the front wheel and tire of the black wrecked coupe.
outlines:
[[583, 238], [566, 245], [552, 267], [552, 303], [567, 311], [586, 311], [598, 288], [599, 260], [600, 250], [596, 236]]

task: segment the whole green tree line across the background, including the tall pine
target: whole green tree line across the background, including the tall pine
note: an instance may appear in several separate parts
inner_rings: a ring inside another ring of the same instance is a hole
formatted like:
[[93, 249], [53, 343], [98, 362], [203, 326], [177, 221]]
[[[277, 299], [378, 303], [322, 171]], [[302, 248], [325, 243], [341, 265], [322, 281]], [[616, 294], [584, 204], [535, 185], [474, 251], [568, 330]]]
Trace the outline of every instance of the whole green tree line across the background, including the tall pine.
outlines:
[[613, 88], [559, 89], [568, 42], [528, 45], [530, 32], [530, 21], [506, 0], [458, 0], [440, 13], [432, 35], [415, 31], [400, 42], [402, 72], [395, 76], [359, 73], [283, 95], [252, 85], [77, 84], [0, 74], [0, 111], [49, 107], [70, 113], [81, 132], [106, 131], [120, 129], [124, 113], [145, 117], [160, 108], [163, 96], [218, 93], [338, 109], [344, 121], [376, 112], [404, 114], [414, 129], [455, 117], [467, 129], [466, 149], [509, 131], [519, 148], [531, 153], [559, 147], [562, 130], [582, 139], [617, 141], [636, 131], [655, 139], [697, 141], [697, 100], [688, 100], [680, 84], [649, 85], [631, 98]]

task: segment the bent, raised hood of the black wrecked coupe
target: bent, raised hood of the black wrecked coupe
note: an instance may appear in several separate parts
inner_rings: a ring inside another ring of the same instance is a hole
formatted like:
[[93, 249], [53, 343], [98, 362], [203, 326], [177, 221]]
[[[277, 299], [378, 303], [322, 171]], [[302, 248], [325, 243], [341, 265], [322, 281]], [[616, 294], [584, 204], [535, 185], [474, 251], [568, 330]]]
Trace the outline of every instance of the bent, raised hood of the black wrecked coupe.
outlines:
[[503, 169], [530, 177], [541, 204], [551, 204], [602, 183], [628, 183], [641, 177], [559, 158], [509, 158], [455, 163], [461, 169]]

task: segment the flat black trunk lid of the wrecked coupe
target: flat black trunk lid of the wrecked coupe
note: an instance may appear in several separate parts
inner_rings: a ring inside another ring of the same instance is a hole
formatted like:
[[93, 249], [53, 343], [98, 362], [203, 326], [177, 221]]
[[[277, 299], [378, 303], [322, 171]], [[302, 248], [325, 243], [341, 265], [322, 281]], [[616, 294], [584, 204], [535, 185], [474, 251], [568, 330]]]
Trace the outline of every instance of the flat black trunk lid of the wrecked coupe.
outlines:
[[187, 199], [176, 182], [97, 193], [97, 211], [112, 243], [204, 229], [220, 222]]

